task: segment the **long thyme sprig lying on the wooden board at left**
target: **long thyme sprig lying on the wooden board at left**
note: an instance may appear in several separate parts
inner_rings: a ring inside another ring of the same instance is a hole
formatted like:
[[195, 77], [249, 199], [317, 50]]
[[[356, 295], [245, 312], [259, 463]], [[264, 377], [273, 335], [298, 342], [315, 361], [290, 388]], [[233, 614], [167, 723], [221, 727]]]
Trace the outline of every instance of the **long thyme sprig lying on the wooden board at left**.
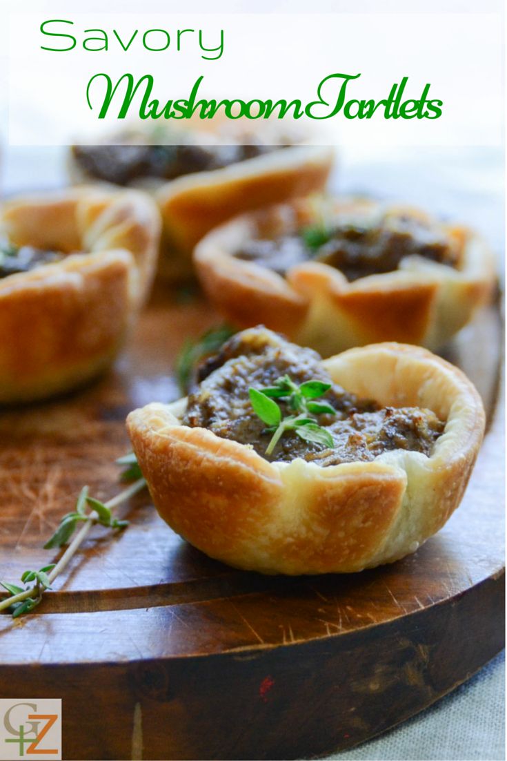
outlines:
[[[113, 517], [112, 511], [121, 505], [122, 502], [128, 500], [128, 498], [140, 492], [146, 486], [141, 468], [138, 466], [138, 462], [135, 458], [135, 454], [127, 454], [125, 457], [120, 457], [116, 460], [119, 465], [126, 465], [127, 468], [120, 476], [122, 480], [135, 481], [123, 489], [122, 492], [112, 497], [106, 502], [101, 502], [98, 499], [90, 497], [88, 495], [88, 487], [84, 486], [76, 501], [76, 506], [73, 512], [67, 513], [62, 517], [59, 527], [56, 529], [52, 537], [44, 545], [44, 549], [53, 549], [54, 547], [62, 547], [68, 543], [72, 534], [78, 527], [79, 523], [82, 523], [81, 529], [75, 535], [74, 539], [68, 545], [67, 549], [63, 553], [62, 557], [57, 563], [46, 565], [40, 568], [39, 571], [25, 571], [21, 576], [21, 583], [25, 584], [25, 587], [19, 587], [17, 584], [8, 584], [7, 581], [0, 581], [2, 587], [8, 591], [10, 597], [6, 597], [4, 600], [0, 600], [0, 610], [10, 609], [13, 618], [23, 615], [24, 613], [30, 613], [35, 608], [40, 600], [43, 598], [43, 593], [46, 589], [51, 589], [51, 584], [55, 581], [55, 578], [62, 573], [64, 568], [68, 565], [68, 562], [74, 557], [81, 544], [87, 538], [90, 530], [93, 526], [100, 524], [112, 529], [122, 530], [128, 526], [128, 521], [119, 520]], [[31, 586], [26, 586], [31, 582], [35, 582]]]

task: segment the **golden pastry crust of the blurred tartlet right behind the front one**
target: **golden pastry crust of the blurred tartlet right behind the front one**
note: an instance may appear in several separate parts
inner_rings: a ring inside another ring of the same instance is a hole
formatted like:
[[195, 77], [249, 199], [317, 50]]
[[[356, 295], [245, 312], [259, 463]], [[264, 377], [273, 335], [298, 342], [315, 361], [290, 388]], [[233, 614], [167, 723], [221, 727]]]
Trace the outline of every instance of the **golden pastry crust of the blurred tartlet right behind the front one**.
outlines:
[[[371, 201], [336, 201], [337, 212], [380, 209]], [[281, 330], [324, 356], [379, 341], [438, 349], [490, 301], [496, 282], [493, 256], [483, 239], [464, 227], [445, 225], [460, 251], [458, 267], [407, 256], [399, 269], [348, 282], [338, 269], [309, 261], [286, 277], [239, 260], [246, 240], [293, 232], [315, 220], [312, 199], [271, 207], [233, 219], [211, 231], [194, 253], [208, 298], [236, 326], [258, 323]], [[428, 219], [420, 210], [402, 210]]]

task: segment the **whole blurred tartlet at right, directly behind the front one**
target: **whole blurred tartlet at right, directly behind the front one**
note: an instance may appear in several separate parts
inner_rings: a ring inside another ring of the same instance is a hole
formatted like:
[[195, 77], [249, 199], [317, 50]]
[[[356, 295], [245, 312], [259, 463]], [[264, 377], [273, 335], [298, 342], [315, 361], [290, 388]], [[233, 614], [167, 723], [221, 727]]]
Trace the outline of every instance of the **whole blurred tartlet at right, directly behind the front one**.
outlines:
[[379, 341], [438, 349], [490, 300], [479, 235], [417, 209], [302, 199], [242, 215], [195, 250], [212, 303], [322, 355]]

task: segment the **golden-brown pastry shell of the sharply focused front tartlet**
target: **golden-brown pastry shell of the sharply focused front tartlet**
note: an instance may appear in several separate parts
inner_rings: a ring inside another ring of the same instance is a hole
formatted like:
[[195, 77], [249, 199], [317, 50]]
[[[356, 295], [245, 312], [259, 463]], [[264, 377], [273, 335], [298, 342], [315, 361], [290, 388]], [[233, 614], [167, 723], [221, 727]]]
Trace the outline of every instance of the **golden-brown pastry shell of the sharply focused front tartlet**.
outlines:
[[160, 515], [209, 556], [262, 573], [348, 573], [414, 552], [458, 507], [483, 438], [471, 381], [420, 347], [382, 343], [323, 362], [336, 384], [446, 422], [431, 457], [269, 463], [251, 447], [181, 425], [186, 400], [137, 409], [127, 428]]

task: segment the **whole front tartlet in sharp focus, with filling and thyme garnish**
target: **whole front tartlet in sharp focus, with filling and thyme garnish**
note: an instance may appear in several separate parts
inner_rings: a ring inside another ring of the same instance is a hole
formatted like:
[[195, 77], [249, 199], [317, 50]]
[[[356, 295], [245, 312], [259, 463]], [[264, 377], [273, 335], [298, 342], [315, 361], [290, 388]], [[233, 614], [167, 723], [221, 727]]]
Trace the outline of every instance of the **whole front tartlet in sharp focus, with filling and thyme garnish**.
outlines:
[[199, 380], [128, 431], [163, 519], [239, 568], [355, 572], [414, 552], [459, 505], [483, 437], [470, 380], [415, 346], [321, 361], [255, 328]]

